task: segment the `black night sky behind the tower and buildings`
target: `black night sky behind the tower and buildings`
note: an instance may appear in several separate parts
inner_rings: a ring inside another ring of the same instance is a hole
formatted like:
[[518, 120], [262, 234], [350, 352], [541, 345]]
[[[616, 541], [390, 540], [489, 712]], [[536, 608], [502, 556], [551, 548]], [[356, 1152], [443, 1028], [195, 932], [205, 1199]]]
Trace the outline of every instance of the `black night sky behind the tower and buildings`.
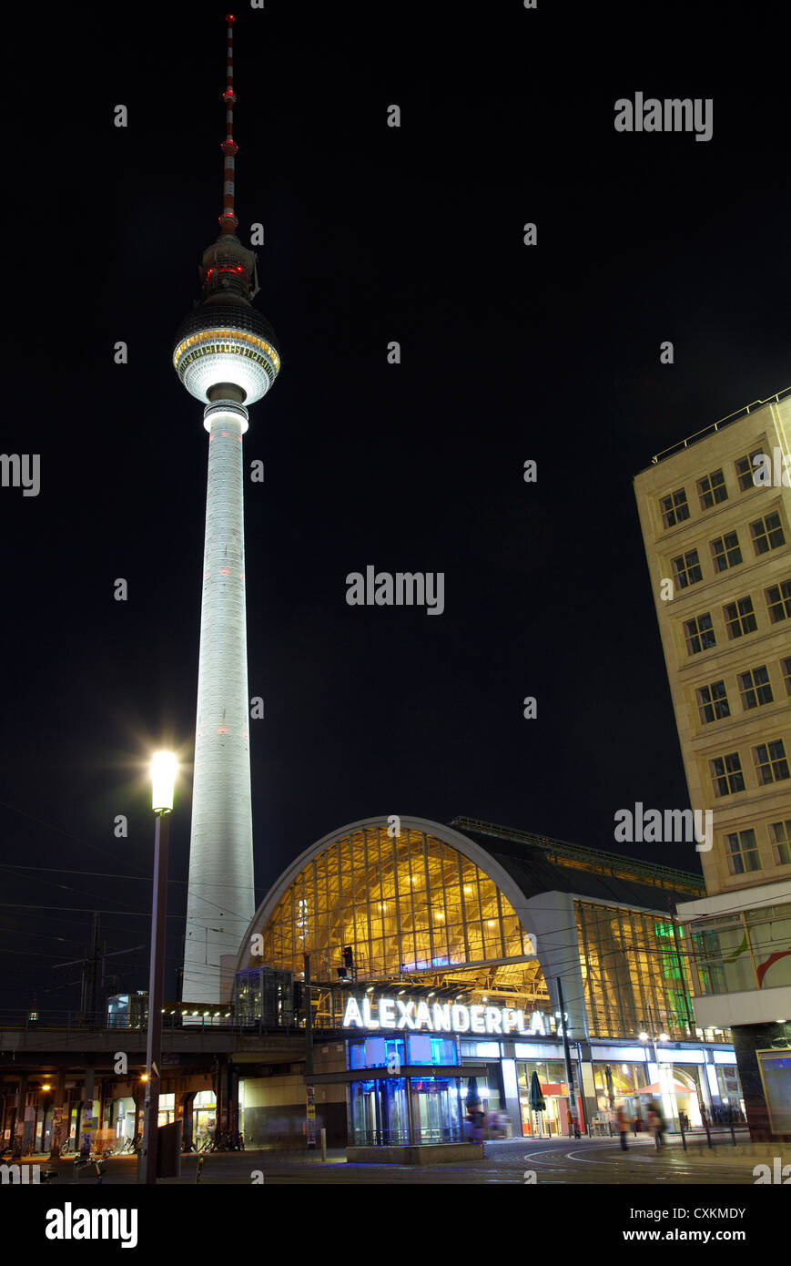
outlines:
[[[0, 451], [42, 465], [37, 498], [0, 489], [6, 1019], [33, 993], [77, 1005], [80, 968], [57, 965], [94, 909], [110, 951], [146, 947], [108, 960], [120, 987], [147, 987], [144, 770], [170, 744], [175, 994], [208, 443], [171, 353], [218, 233], [224, 13], [52, 6], [8, 57]], [[239, 235], [265, 224], [256, 306], [282, 351], [244, 441], [266, 463], [246, 486], [259, 898], [368, 814], [468, 814], [699, 871], [692, 846], [613, 838], [637, 800], [688, 806], [632, 480], [791, 381], [776, 14], [237, 10]], [[637, 91], [711, 97], [713, 139], [616, 133]], [[368, 563], [444, 572], [444, 614], [347, 605]]]

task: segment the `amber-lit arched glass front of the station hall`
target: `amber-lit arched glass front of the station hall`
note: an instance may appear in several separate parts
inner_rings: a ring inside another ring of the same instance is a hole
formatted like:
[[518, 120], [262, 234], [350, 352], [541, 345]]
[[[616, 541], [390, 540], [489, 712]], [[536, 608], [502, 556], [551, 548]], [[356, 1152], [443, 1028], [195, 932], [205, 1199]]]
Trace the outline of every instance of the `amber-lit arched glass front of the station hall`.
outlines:
[[[414, 981], [437, 985], [444, 1000], [549, 1009], [530, 938], [508, 898], [475, 862], [421, 830], [391, 838], [386, 827], [366, 827], [333, 841], [282, 894], [262, 941], [267, 967], [297, 980], [309, 953], [318, 981], [343, 968], [347, 984]], [[249, 970], [261, 961], [251, 955]], [[313, 1005], [316, 1025], [340, 1023], [337, 990], [318, 986]]]

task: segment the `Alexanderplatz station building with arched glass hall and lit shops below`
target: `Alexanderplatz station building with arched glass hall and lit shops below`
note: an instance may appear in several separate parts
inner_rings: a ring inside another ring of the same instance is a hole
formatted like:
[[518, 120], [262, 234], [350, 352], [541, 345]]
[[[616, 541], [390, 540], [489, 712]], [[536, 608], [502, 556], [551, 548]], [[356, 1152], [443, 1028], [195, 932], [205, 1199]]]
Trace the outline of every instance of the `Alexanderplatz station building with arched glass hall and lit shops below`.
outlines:
[[281, 876], [238, 989], [249, 1006], [256, 970], [299, 982], [309, 956], [314, 1032], [346, 1050], [343, 1071], [318, 1058], [314, 1080], [346, 1086], [353, 1146], [456, 1142], [471, 1094], [510, 1133], [566, 1133], [570, 1076], [583, 1129], [654, 1094], [672, 1128], [723, 1100], [715, 1052], [729, 1077], [735, 1063], [726, 1032], [695, 1028], [687, 938], [668, 913], [699, 891], [670, 867], [470, 819], [370, 819]]

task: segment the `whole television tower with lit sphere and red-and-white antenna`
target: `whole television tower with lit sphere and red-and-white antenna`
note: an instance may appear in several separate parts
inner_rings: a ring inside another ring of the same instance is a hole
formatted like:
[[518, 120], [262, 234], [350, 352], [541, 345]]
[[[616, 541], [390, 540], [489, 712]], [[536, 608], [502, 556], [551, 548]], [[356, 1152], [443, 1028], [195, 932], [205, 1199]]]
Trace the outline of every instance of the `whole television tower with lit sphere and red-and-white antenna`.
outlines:
[[237, 955], [256, 913], [249, 779], [242, 436], [247, 405], [280, 371], [272, 327], [251, 300], [256, 254], [237, 237], [233, 14], [223, 92], [227, 135], [220, 233], [204, 251], [202, 298], [181, 323], [173, 367], [204, 408], [209, 432], [204, 592], [182, 999], [219, 1003], [220, 956]]

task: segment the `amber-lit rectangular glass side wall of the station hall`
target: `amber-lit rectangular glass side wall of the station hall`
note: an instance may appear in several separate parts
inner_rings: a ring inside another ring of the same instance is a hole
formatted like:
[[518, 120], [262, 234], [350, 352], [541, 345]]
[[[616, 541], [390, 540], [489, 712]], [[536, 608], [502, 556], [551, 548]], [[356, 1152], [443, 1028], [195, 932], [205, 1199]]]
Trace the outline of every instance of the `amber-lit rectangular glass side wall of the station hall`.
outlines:
[[590, 1036], [694, 1036], [683, 928], [618, 906], [575, 908]]

